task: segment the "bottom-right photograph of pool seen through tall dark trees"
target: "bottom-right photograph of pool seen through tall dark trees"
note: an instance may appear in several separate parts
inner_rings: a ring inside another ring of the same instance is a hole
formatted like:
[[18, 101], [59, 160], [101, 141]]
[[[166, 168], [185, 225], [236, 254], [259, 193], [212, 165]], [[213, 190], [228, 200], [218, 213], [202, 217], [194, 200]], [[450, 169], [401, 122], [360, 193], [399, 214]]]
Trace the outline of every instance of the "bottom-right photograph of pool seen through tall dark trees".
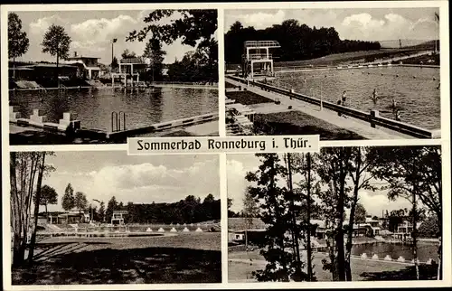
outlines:
[[229, 282], [441, 279], [440, 146], [227, 156]]

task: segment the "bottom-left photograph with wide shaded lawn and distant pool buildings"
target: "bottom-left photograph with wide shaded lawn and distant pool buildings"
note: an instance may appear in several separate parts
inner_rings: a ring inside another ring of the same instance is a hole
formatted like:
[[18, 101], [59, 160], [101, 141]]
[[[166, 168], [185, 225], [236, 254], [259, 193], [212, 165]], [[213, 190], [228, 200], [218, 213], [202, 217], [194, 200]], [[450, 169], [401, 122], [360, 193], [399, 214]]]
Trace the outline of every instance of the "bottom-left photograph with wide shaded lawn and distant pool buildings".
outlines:
[[218, 155], [11, 152], [10, 168], [13, 286], [221, 283]]

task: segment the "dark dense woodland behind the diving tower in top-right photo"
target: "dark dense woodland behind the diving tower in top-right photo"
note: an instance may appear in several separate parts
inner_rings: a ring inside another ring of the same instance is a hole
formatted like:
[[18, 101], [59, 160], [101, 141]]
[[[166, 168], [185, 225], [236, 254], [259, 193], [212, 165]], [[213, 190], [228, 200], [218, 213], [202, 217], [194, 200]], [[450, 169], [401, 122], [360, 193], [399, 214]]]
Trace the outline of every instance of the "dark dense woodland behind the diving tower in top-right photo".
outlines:
[[295, 19], [274, 24], [266, 29], [243, 27], [239, 21], [224, 35], [224, 58], [228, 63], [241, 63], [243, 42], [278, 41], [274, 51], [278, 61], [302, 61], [339, 52], [380, 50], [380, 42], [341, 40], [334, 27], [309, 27]]

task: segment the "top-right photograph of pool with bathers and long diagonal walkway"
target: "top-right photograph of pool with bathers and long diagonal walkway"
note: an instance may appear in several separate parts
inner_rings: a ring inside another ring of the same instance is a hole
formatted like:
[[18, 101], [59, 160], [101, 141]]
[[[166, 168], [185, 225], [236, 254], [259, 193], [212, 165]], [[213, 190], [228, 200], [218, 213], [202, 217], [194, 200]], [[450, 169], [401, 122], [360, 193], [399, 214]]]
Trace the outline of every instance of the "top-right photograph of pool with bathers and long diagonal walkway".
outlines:
[[439, 138], [439, 8], [224, 11], [226, 134]]

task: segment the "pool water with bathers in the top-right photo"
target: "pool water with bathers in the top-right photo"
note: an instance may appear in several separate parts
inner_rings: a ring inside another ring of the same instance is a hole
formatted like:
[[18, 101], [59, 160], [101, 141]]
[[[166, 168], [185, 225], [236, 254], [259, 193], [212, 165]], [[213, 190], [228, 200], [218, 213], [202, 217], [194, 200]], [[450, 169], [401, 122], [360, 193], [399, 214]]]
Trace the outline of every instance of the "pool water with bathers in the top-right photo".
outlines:
[[[401, 121], [426, 129], [439, 129], [439, 69], [418, 67], [376, 67], [351, 70], [283, 72], [270, 82], [278, 87], [334, 102], [347, 90], [349, 107], [369, 112], [378, 109], [381, 117], [395, 118], [392, 99], [400, 108]], [[306, 80], [306, 81], [305, 81]], [[377, 89], [379, 99], [371, 97]]]

